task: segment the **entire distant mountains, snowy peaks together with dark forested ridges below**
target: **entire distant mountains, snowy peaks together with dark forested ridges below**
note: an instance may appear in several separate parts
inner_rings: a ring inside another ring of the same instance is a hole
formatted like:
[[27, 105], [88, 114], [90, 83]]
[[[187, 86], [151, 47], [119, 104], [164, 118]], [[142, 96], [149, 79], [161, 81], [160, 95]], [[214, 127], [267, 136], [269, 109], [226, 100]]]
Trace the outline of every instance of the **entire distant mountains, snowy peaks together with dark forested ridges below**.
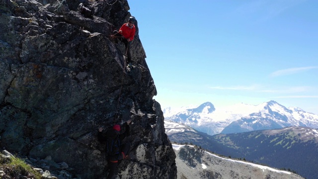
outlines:
[[307, 179], [318, 178], [317, 114], [276, 101], [223, 108], [205, 102], [198, 107], [162, 111], [171, 142], [291, 169]]

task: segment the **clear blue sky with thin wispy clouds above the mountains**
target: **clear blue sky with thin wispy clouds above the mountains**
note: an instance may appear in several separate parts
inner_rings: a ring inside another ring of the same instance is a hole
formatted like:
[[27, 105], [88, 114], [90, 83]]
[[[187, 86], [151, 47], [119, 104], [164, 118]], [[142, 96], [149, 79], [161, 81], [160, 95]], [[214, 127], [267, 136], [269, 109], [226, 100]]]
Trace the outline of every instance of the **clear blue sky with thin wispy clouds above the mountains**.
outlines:
[[269, 100], [318, 114], [318, 0], [128, 0], [165, 107]]

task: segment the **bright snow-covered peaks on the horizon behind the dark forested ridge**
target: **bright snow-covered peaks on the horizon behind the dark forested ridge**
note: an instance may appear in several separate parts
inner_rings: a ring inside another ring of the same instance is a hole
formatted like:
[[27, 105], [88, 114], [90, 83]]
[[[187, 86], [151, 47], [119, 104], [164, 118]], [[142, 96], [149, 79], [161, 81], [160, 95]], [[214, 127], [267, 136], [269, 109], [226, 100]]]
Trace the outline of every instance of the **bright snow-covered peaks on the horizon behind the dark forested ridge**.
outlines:
[[179, 110], [172, 115], [171, 108], [166, 120], [183, 123], [209, 135], [236, 133], [261, 129], [276, 129], [287, 126], [306, 126], [318, 128], [318, 115], [298, 107], [286, 108], [276, 101], [259, 105], [235, 104], [217, 108], [205, 102], [196, 108]]

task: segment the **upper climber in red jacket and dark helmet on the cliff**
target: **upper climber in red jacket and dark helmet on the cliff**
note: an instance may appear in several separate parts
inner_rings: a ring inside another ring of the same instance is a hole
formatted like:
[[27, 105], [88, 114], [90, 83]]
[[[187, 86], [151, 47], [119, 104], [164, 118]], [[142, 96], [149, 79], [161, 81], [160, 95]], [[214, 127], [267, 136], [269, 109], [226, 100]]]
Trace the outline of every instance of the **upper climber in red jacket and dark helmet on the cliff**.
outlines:
[[134, 36], [136, 33], [135, 28], [135, 18], [129, 17], [128, 22], [124, 23], [119, 31], [114, 30], [113, 34], [115, 37], [118, 37], [120, 41], [124, 42], [126, 51], [127, 51], [127, 63], [131, 63], [131, 54], [130, 54], [130, 46], [129, 42], [134, 40]]

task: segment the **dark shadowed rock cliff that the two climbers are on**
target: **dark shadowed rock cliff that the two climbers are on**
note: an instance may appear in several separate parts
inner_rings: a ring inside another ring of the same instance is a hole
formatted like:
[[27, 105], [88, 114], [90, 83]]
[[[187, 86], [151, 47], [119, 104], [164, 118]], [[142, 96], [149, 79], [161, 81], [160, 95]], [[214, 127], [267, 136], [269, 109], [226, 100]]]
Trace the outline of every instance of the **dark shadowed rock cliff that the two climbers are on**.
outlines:
[[[85, 18], [80, 2], [94, 8]], [[130, 16], [127, 0], [0, 0], [0, 146], [32, 158], [66, 162], [82, 179], [107, 175], [105, 131], [129, 118], [130, 160], [122, 179], [175, 179], [175, 154], [139, 37], [110, 38]]]

